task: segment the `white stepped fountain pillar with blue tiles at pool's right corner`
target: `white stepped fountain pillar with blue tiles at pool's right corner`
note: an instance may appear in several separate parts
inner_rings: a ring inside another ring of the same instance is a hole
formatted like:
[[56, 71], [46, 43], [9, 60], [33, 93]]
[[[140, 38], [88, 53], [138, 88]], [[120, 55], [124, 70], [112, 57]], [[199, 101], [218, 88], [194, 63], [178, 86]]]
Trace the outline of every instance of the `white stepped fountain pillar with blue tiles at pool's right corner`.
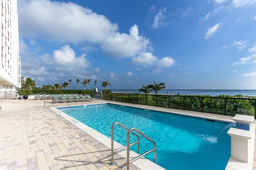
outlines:
[[255, 123], [249, 115], [235, 115], [236, 128], [227, 132], [231, 136], [231, 157], [226, 170], [252, 170], [254, 159]]

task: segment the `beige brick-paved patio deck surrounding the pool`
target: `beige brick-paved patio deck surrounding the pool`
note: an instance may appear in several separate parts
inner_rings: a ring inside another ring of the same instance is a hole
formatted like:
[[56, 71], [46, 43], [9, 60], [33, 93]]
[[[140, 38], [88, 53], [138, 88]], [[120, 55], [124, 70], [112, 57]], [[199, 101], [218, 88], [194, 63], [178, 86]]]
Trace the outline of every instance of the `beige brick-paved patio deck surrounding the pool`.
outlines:
[[[96, 102], [72, 102], [69, 104], [100, 102], [109, 101], [97, 100]], [[2, 106], [0, 112], [0, 169], [126, 169], [126, 159], [118, 154], [115, 154], [116, 165], [109, 166], [111, 152], [108, 147], [49, 108], [67, 106], [66, 103], [52, 103], [52, 100], [45, 100], [45, 103], [44, 100], [0, 100], [0, 106]], [[168, 110], [232, 120], [231, 116], [176, 109]], [[256, 170], [255, 153], [254, 150], [254, 170]], [[130, 169], [139, 170], [133, 164], [130, 164]]]

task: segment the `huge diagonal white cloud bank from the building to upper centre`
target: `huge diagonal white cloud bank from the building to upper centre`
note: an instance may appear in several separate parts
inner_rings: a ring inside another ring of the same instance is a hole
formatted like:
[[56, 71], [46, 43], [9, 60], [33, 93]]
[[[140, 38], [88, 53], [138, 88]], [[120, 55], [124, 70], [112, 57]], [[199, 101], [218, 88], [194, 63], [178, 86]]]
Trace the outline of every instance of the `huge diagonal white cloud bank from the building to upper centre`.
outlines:
[[114, 58], [133, 57], [152, 49], [149, 39], [139, 35], [137, 25], [130, 28], [129, 34], [120, 33], [116, 23], [72, 2], [19, 0], [18, 15], [20, 37], [86, 43], [83, 51], [95, 51], [99, 46]]

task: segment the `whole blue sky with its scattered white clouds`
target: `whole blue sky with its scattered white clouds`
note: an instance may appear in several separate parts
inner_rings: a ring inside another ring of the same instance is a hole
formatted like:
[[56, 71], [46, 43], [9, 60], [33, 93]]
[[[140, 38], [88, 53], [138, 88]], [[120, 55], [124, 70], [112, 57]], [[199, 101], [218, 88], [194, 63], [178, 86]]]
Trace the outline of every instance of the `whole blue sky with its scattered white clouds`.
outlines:
[[[18, 0], [22, 76], [256, 89], [256, 0]], [[87, 86], [86, 86], [87, 87]]]

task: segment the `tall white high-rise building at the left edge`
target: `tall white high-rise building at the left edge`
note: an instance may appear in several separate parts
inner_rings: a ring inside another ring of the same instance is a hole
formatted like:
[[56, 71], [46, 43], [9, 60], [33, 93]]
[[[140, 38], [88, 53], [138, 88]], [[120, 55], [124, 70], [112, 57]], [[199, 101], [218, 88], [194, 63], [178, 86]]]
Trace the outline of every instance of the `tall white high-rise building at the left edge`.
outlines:
[[17, 0], [2, 0], [0, 92], [21, 87]]

